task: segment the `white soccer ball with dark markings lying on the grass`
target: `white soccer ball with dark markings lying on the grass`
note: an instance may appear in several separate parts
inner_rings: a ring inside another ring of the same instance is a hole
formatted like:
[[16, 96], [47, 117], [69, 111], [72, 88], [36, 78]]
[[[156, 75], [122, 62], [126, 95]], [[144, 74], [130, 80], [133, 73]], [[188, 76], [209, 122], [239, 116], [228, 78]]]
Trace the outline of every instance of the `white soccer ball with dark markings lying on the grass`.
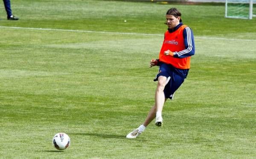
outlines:
[[66, 133], [56, 133], [52, 143], [56, 149], [65, 150], [70, 145], [70, 138]]

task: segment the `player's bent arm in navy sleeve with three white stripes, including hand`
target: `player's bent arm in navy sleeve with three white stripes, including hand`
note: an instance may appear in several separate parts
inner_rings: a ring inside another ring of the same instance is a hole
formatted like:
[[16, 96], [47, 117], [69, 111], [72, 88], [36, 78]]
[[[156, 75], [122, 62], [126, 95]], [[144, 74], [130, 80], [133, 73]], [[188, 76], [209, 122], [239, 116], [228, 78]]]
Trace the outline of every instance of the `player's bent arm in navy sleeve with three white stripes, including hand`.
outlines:
[[179, 52], [169, 53], [169, 55], [177, 58], [185, 58], [195, 54], [195, 41], [192, 30], [189, 27], [184, 28], [183, 38], [185, 49]]

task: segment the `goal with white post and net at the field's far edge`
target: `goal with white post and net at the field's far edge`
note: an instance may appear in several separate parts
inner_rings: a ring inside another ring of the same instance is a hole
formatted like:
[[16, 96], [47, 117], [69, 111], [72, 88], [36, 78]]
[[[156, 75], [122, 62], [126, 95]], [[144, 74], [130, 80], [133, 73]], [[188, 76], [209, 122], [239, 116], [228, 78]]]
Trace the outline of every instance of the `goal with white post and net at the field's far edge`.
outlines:
[[253, 14], [253, 3], [256, 0], [226, 0], [225, 17], [252, 19], [256, 16], [256, 11]]

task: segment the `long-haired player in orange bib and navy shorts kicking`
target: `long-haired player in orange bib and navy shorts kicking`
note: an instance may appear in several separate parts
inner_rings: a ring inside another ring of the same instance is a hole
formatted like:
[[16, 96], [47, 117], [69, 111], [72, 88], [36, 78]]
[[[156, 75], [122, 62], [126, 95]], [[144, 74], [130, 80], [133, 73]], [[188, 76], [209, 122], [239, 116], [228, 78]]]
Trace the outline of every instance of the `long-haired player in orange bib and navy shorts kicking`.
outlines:
[[162, 110], [167, 99], [173, 99], [175, 91], [184, 82], [190, 68], [190, 57], [195, 54], [195, 43], [192, 30], [184, 25], [181, 13], [171, 8], [166, 13], [168, 30], [164, 34], [159, 59], [150, 61], [150, 67], [159, 66], [154, 81], [157, 82], [154, 106], [148, 113], [144, 123], [128, 133], [129, 139], [139, 136], [154, 119], [155, 125], [162, 126]]

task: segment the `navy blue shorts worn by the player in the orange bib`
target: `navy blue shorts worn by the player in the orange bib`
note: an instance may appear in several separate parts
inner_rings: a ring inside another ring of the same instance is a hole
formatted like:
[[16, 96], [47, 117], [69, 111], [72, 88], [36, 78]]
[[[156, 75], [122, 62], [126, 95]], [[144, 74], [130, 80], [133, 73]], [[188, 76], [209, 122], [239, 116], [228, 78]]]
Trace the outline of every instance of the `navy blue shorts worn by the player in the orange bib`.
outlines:
[[165, 98], [173, 99], [174, 92], [180, 87], [184, 82], [186, 77], [181, 76], [172, 65], [162, 63], [160, 65], [158, 74], [156, 75], [154, 81], [158, 80], [159, 76], [164, 76], [167, 78], [167, 84], [163, 90]]

